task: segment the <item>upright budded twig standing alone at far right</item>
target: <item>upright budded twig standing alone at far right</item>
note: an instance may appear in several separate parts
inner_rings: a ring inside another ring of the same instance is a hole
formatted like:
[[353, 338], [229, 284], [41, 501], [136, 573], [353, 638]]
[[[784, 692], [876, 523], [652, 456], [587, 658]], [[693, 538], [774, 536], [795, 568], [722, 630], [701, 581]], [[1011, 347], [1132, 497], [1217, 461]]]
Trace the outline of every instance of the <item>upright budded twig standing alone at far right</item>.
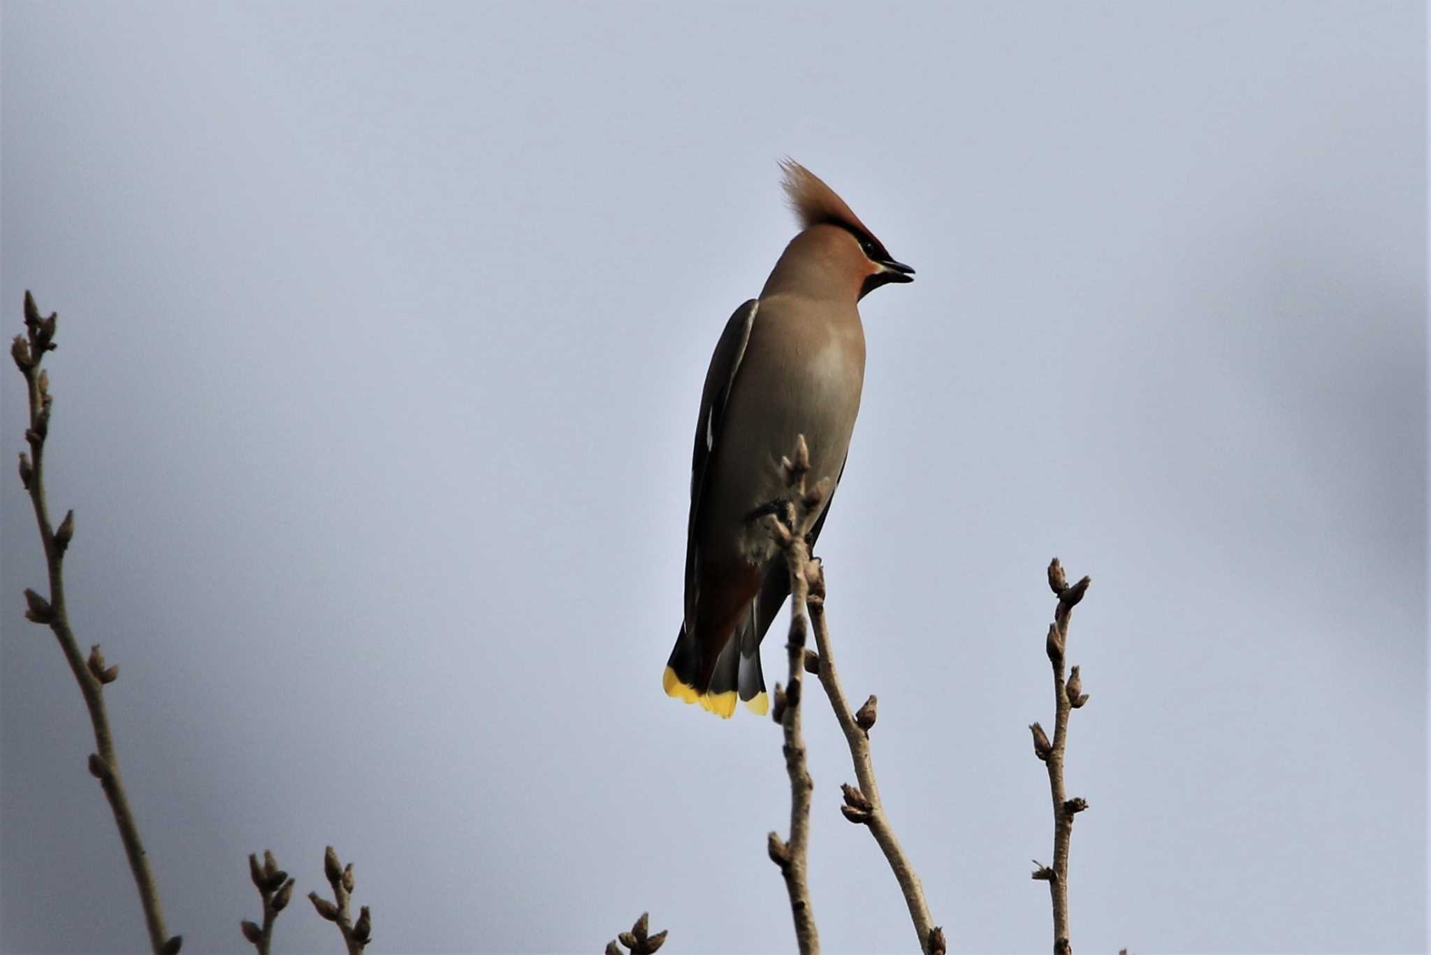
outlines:
[[1059, 598], [1045, 641], [1049, 663], [1053, 666], [1053, 742], [1049, 742], [1043, 727], [1037, 723], [1029, 727], [1033, 733], [1033, 755], [1047, 766], [1049, 795], [1053, 800], [1053, 865], [1050, 868], [1035, 861], [1033, 865], [1039, 868], [1033, 871], [1033, 878], [1049, 883], [1049, 896], [1053, 902], [1055, 955], [1072, 955], [1073, 952], [1069, 942], [1069, 839], [1073, 835], [1073, 816], [1088, 809], [1086, 799], [1069, 799], [1063, 789], [1063, 753], [1068, 747], [1069, 713], [1088, 703], [1079, 669], [1073, 667], [1065, 682], [1063, 660], [1068, 649], [1069, 616], [1088, 593], [1090, 583], [1092, 578], [1085, 577], [1070, 587], [1059, 558], [1055, 557], [1049, 564], [1049, 588]]

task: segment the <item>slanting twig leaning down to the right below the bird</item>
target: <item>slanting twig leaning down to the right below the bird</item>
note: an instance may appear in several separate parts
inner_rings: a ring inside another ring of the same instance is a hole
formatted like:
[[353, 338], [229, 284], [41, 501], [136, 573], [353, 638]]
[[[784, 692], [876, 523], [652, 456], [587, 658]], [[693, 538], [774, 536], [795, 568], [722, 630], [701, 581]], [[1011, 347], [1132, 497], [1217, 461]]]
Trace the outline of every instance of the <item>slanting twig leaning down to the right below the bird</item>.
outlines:
[[[791, 577], [794, 571], [791, 570]], [[934, 918], [929, 913], [929, 902], [924, 901], [924, 886], [914, 872], [913, 863], [904, 855], [894, 829], [890, 826], [884, 803], [880, 800], [880, 787], [874, 779], [874, 762], [870, 756], [870, 729], [876, 719], [876, 697], [864, 702], [857, 713], [850, 712], [850, 702], [840, 686], [840, 676], [834, 667], [834, 653], [830, 647], [830, 626], [824, 616], [824, 567], [819, 560], [810, 560], [804, 576], [810, 581], [810, 596], [806, 606], [810, 610], [810, 623], [814, 627], [814, 643], [820, 656], [811, 660], [820, 686], [830, 697], [834, 709], [834, 719], [844, 730], [844, 739], [850, 745], [850, 760], [854, 763], [854, 777], [859, 787], [843, 786], [844, 805], [840, 810], [844, 818], [854, 823], [869, 826], [870, 835], [884, 852], [884, 859], [894, 872], [900, 892], [904, 895], [904, 905], [909, 906], [910, 921], [914, 924], [914, 934], [919, 936], [920, 951], [926, 955], [944, 951], [944, 932], [934, 925]]]

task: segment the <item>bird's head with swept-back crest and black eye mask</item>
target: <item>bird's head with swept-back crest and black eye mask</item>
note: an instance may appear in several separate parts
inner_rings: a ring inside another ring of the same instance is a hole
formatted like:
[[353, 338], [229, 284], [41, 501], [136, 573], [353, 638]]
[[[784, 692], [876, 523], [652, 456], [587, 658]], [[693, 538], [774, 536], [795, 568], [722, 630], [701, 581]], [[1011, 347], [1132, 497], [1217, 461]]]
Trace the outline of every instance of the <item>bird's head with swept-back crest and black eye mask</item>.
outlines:
[[803, 229], [790, 243], [791, 252], [819, 259], [826, 271], [853, 285], [857, 298], [890, 282], [914, 281], [914, 269], [896, 262], [834, 189], [793, 159], [780, 168], [786, 196]]

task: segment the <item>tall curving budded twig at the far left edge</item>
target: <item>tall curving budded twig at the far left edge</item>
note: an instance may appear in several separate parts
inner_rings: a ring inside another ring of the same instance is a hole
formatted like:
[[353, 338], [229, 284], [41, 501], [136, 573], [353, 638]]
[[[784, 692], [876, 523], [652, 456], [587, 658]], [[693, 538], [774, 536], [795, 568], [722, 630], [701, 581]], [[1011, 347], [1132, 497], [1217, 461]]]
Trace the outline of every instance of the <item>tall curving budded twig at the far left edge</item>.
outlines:
[[34, 623], [49, 624], [54, 639], [64, 651], [64, 659], [70, 664], [74, 680], [80, 684], [84, 696], [84, 706], [89, 709], [90, 724], [94, 729], [94, 747], [90, 753], [89, 770], [100, 782], [104, 798], [114, 813], [114, 825], [119, 828], [119, 838], [124, 843], [124, 855], [129, 856], [129, 869], [135, 875], [135, 886], [139, 889], [139, 902], [145, 909], [145, 924], [149, 928], [149, 946], [155, 955], [177, 955], [183, 945], [179, 935], [169, 936], [165, 929], [163, 906], [159, 902], [159, 888], [155, 885], [155, 875], [149, 868], [149, 856], [139, 838], [139, 825], [135, 813], [129, 808], [129, 798], [124, 795], [124, 783], [119, 775], [119, 756], [114, 752], [114, 736], [109, 727], [109, 713], [104, 709], [104, 684], [112, 683], [119, 676], [117, 666], [106, 666], [99, 646], [90, 650], [89, 660], [80, 653], [79, 641], [70, 629], [69, 610], [64, 603], [64, 551], [74, 535], [74, 511], [69, 511], [59, 528], [50, 524], [50, 510], [44, 495], [44, 442], [50, 428], [50, 377], [40, 369], [44, 354], [54, 351], [54, 326], [57, 315], [40, 318], [40, 309], [34, 305], [34, 298], [24, 294], [24, 326], [26, 335], [16, 335], [10, 345], [10, 357], [24, 375], [24, 382], [30, 398], [30, 427], [24, 438], [30, 445], [30, 454], [20, 454], [20, 481], [30, 493], [30, 503], [34, 505], [34, 521], [40, 528], [40, 543], [44, 546], [44, 561], [50, 576], [50, 597], [46, 600], [33, 590], [24, 591], [27, 604], [26, 617]]

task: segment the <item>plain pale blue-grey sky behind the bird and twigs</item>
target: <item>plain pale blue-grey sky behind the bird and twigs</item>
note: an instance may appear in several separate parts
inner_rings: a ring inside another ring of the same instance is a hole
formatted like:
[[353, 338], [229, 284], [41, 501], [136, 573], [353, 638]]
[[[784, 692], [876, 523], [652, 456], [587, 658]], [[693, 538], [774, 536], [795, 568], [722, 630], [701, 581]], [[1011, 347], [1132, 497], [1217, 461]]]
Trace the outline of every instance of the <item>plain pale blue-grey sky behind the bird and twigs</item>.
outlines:
[[[952, 946], [1047, 949], [1058, 554], [1095, 577], [1078, 951], [1424, 951], [1422, 4], [289, 7], [0, 23], [0, 315], [60, 312], [72, 616], [186, 952], [243, 949], [248, 852], [306, 893], [326, 842], [373, 951], [600, 951], [643, 909], [791, 951], [778, 730], [660, 689], [787, 153], [919, 269], [864, 302], [821, 551]], [[0, 948], [139, 951], [0, 487]], [[826, 949], [907, 951], [807, 722]], [[276, 938], [339, 948], [306, 902]]]

